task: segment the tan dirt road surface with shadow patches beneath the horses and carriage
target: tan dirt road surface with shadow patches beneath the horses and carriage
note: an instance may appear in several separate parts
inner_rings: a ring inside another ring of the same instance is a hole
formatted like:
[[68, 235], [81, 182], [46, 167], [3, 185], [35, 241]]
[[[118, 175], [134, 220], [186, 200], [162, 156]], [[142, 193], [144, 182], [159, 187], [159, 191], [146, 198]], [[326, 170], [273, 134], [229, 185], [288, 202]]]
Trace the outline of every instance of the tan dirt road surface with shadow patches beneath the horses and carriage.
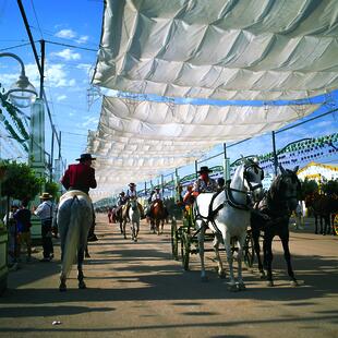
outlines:
[[[281, 245], [274, 244], [276, 286], [244, 269], [248, 290], [230, 292], [207, 255], [209, 280], [171, 258], [170, 226], [150, 234], [143, 222], [137, 243], [100, 216], [99, 241], [90, 243], [79, 290], [75, 266], [68, 291], [58, 290], [60, 252], [51, 263], [35, 259], [11, 271], [0, 298], [1, 337], [338, 337], [337, 237], [291, 232], [299, 287], [289, 286]], [[209, 243], [206, 243], [206, 246]], [[52, 322], [59, 321], [59, 325]]]

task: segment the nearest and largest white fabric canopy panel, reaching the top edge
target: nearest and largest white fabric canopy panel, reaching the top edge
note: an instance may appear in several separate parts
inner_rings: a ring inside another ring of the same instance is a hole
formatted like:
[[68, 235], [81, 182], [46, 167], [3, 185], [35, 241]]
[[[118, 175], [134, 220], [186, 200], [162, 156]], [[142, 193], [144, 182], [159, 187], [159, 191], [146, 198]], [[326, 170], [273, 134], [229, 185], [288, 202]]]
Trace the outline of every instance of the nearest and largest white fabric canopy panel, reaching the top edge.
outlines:
[[[338, 87], [337, 0], [105, 3], [93, 79], [99, 86], [236, 100], [305, 98]], [[131, 129], [137, 128], [145, 126]]]

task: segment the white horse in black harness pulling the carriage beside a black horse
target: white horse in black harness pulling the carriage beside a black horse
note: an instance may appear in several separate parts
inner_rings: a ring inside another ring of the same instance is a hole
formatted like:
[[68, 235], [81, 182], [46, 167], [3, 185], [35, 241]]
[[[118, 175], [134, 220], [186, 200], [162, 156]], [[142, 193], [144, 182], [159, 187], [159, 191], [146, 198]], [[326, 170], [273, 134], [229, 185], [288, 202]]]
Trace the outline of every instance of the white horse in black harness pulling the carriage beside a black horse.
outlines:
[[[207, 276], [204, 266], [204, 237], [205, 230], [209, 227], [215, 234], [214, 249], [218, 261], [218, 275], [225, 276], [222, 263], [219, 256], [219, 243], [224, 243], [229, 264], [229, 290], [244, 290], [242, 279], [242, 253], [246, 237], [246, 229], [250, 226], [250, 201], [249, 194], [257, 200], [262, 194], [262, 180], [264, 173], [253, 160], [243, 159], [225, 190], [218, 194], [200, 194], [194, 204], [194, 215], [198, 232], [198, 251], [201, 257], [201, 278], [206, 280]], [[233, 255], [230, 240], [237, 239], [238, 244], [238, 286], [233, 276]]]

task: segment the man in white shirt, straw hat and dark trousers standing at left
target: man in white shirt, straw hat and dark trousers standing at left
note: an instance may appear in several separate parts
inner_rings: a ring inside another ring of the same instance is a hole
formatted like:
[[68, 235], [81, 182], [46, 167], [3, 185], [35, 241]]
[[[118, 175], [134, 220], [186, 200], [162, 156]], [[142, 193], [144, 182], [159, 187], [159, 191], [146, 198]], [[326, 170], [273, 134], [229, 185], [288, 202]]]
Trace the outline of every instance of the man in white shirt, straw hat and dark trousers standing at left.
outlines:
[[51, 195], [49, 193], [43, 193], [40, 196], [41, 203], [34, 212], [41, 220], [41, 237], [43, 237], [43, 249], [44, 258], [40, 262], [50, 262], [53, 258], [53, 246], [52, 246], [52, 216], [55, 213], [55, 206], [51, 202]]

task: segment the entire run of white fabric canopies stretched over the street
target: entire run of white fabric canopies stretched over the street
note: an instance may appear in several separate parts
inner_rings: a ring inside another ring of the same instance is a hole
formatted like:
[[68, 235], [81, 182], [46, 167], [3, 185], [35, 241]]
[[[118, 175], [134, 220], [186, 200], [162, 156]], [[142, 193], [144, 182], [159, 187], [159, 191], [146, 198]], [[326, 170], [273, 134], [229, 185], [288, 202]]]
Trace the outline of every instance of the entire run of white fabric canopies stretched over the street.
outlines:
[[97, 195], [313, 112], [309, 98], [338, 84], [337, 13], [333, 0], [107, 0], [93, 84], [140, 100], [104, 97], [87, 144]]

